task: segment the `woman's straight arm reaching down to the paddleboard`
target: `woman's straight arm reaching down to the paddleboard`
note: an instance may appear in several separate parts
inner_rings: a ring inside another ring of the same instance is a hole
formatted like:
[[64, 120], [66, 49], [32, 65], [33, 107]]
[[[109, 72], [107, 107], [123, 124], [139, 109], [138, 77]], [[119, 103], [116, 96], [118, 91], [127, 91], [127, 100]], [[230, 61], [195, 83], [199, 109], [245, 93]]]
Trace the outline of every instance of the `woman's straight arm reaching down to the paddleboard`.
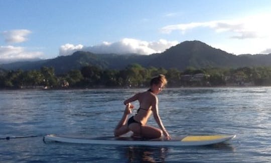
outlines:
[[153, 114], [154, 114], [154, 119], [156, 120], [158, 126], [161, 128], [161, 130], [163, 131], [163, 134], [164, 136], [169, 140], [171, 139], [168, 131], [166, 130], [166, 128], [164, 127], [163, 123], [162, 123], [162, 120], [159, 116], [159, 111], [158, 111], [158, 99], [157, 97], [155, 97], [155, 99], [153, 100], [153, 103], [152, 103], [152, 111], [153, 111]]

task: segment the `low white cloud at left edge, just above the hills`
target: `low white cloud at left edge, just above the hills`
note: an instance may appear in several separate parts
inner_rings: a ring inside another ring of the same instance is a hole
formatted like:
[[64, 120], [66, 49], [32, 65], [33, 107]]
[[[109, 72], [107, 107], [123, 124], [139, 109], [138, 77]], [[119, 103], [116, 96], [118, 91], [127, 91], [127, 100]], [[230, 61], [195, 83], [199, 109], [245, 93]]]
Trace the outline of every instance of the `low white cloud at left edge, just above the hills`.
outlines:
[[37, 59], [42, 55], [39, 51], [27, 51], [24, 47], [0, 46], [0, 63]]

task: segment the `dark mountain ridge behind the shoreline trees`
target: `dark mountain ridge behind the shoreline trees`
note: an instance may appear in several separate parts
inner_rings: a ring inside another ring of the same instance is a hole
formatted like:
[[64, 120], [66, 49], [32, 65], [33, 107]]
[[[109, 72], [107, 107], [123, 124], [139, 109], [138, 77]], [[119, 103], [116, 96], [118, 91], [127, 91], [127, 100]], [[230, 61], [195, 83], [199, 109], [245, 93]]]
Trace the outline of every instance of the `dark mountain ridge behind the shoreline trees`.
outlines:
[[269, 66], [271, 54], [242, 54], [234, 55], [221, 49], [213, 48], [201, 41], [184, 41], [172, 46], [162, 53], [151, 55], [140, 54], [95, 54], [77, 51], [72, 55], [58, 56], [53, 59], [15, 62], [1, 64], [4, 69], [40, 69], [42, 66], [54, 67], [56, 73], [65, 73], [71, 69], [80, 69], [82, 66], [95, 65], [108, 69], [123, 69], [129, 64], [138, 63], [144, 67], [177, 68], [184, 70], [188, 67], [210, 68], [245, 66]]

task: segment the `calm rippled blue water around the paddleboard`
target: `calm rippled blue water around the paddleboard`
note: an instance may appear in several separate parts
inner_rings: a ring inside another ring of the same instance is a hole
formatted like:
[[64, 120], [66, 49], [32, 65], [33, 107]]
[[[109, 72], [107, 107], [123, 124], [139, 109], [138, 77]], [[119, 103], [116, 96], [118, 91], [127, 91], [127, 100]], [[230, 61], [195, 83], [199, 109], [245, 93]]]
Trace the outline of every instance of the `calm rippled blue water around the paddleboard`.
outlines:
[[[171, 136], [237, 134], [227, 143], [146, 147], [43, 142], [43, 135], [112, 136], [139, 89], [0, 91], [0, 162], [271, 162], [271, 87], [166, 89], [160, 116]], [[138, 103], [134, 103], [138, 108]], [[149, 124], [156, 125], [154, 119]]]

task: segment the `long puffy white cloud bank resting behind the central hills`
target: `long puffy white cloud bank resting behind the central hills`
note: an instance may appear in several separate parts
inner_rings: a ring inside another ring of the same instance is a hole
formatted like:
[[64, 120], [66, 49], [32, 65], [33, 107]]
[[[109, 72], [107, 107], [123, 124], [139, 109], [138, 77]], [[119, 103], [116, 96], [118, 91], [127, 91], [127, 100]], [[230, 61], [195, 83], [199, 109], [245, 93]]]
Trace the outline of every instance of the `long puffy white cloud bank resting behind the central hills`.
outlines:
[[70, 55], [75, 51], [89, 51], [93, 53], [116, 53], [116, 54], [129, 54], [137, 53], [149, 55], [153, 53], [160, 53], [178, 44], [177, 41], [159, 40], [156, 42], [148, 42], [131, 38], [124, 38], [120, 41], [109, 43], [103, 42], [100, 45], [83, 46], [66, 44], [60, 47], [59, 55]]

